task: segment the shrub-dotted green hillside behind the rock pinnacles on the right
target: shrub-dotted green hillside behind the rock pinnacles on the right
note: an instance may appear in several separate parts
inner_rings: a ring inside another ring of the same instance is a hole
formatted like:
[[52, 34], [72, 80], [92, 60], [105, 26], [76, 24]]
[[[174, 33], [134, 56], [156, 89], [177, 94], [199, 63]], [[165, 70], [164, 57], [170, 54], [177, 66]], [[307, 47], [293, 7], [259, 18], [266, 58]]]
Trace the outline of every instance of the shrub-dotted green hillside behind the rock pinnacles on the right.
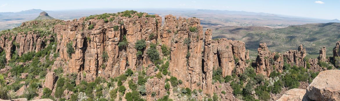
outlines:
[[294, 25], [285, 28], [266, 27], [224, 27], [213, 29], [213, 38], [227, 38], [245, 42], [252, 57], [257, 54], [258, 44], [267, 43], [271, 51], [285, 52], [303, 45], [310, 55], [319, 54], [320, 48], [327, 48], [332, 54], [334, 43], [340, 39], [340, 23], [316, 23]]

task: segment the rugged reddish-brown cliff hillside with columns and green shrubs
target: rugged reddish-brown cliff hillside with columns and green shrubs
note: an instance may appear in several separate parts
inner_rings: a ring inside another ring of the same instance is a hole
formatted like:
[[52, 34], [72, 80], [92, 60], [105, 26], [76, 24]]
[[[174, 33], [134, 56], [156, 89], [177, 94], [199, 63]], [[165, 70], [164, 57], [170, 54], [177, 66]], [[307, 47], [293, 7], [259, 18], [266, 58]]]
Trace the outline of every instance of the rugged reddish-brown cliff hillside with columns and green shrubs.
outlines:
[[[288, 89], [306, 90], [319, 72], [339, 68], [340, 41], [334, 58], [325, 49], [308, 59], [303, 46], [277, 53], [261, 43], [252, 60], [244, 42], [212, 40], [198, 18], [162, 20], [126, 10], [3, 30], [0, 100], [275, 101]], [[259, 29], [268, 30], [242, 31]], [[331, 94], [322, 97], [339, 93]]]

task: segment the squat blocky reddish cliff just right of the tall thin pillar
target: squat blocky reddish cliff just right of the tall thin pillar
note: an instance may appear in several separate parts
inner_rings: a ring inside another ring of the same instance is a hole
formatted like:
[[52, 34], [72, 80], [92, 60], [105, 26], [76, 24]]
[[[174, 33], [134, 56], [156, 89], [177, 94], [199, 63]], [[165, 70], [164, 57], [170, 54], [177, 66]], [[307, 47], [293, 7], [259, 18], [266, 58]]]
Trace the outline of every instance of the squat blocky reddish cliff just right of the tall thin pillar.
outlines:
[[[245, 50], [245, 45], [240, 41], [219, 39], [212, 41], [213, 67], [222, 68], [222, 75], [231, 75], [236, 68], [236, 73], [243, 73], [248, 66], [249, 52]], [[236, 59], [236, 60], [235, 60]]]

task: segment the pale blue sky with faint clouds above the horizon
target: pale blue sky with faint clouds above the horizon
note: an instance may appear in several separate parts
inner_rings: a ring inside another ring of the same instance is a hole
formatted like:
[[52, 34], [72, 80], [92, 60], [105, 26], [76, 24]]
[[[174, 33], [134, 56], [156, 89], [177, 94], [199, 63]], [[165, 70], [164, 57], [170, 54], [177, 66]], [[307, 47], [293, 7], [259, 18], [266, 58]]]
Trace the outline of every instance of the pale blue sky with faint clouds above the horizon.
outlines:
[[0, 0], [0, 12], [91, 8], [193, 8], [340, 19], [340, 0]]

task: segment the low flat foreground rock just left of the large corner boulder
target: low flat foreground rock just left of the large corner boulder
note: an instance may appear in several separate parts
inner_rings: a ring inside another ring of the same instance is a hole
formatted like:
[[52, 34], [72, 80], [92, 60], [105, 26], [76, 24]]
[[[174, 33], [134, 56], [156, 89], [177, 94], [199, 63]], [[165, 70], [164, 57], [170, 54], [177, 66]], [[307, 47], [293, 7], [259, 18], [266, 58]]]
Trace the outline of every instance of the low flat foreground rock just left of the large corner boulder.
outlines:
[[305, 89], [290, 89], [276, 101], [311, 101], [305, 94]]

